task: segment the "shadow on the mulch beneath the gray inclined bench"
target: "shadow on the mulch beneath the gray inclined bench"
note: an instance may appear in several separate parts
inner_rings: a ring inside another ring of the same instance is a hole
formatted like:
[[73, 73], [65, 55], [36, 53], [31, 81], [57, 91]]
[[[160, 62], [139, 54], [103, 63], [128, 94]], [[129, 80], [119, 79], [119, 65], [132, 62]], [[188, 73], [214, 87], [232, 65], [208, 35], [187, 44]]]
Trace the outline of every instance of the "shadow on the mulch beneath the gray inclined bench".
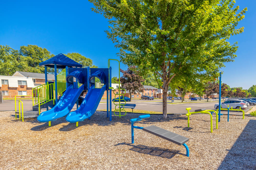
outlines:
[[159, 147], [150, 147], [150, 146], [144, 146], [144, 145], [132, 145], [131, 143], [118, 143], [117, 145], [127, 145], [127, 146], [132, 146], [133, 148], [129, 149], [131, 151], [135, 151], [138, 153], [144, 153], [152, 156], [159, 156], [162, 158], [173, 158], [176, 154], [181, 154], [186, 156], [186, 154], [179, 153], [179, 150], [174, 150], [174, 149], [166, 149], [166, 148], [159, 148]]

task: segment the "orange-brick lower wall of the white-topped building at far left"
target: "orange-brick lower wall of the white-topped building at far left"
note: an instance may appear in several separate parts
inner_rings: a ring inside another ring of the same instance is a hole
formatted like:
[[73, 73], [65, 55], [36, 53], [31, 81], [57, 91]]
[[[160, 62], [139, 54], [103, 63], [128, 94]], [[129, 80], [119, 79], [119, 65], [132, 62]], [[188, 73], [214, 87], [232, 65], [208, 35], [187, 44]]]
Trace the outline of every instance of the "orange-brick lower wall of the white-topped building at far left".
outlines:
[[[14, 98], [18, 95], [18, 91], [27, 91], [27, 95], [33, 95], [33, 91], [31, 87], [27, 87], [27, 85], [18, 85], [18, 87], [8, 87], [8, 85], [2, 85], [0, 87], [1, 91], [8, 91], [8, 96], [3, 96], [3, 98]], [[21, 98], [21, 96], [17, 96], [16, 98]], [[32, 98], [32, 96], [26, 96], [25, 98]]]

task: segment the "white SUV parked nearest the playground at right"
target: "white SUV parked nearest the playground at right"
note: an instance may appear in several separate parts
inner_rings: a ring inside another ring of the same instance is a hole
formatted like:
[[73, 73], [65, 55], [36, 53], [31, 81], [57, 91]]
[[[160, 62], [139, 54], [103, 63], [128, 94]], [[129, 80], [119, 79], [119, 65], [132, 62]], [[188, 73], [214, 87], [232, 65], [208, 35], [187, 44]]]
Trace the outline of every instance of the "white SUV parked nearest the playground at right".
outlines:
[[[243, 110], [247, 109], [247, 104], [239, 99], [226, 100], [221, 103], [221, 108], [227, 109], [228, 105], [229, 105], [229, 108], [233, 107], [234, 109], [240, 109], [240, 107], [241, 107], [241, 109], [243, 109]], [[218, 109], [219, 104], [215, 104], [214, 108]]]

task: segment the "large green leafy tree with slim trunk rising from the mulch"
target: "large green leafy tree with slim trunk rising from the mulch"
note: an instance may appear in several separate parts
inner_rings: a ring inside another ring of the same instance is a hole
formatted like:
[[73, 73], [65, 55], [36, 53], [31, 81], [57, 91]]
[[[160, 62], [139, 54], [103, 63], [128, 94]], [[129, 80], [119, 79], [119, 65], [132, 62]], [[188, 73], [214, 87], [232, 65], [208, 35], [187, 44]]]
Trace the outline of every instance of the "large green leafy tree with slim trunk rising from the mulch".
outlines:
[[109, 19], [106, 33], [121, 61], [145, 74], [153, 71], [163, 89], [164, 118], [169, 84], [182, 77], [217, 77], [224, 63], [233, 61], [238, 46], [226, 40], [243, 32], [236, 26], [247, 10], [238, 13], [230, 0], [89, 1]]

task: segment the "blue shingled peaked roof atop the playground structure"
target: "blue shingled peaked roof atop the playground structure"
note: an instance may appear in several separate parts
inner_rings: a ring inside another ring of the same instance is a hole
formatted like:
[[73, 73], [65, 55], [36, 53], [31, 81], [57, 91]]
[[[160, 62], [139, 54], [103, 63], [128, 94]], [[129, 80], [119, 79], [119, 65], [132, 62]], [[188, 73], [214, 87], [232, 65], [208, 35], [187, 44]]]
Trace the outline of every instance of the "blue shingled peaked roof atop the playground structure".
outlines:
[[47, 66], [47, 67], [54, 68], [54, 64], [56, 64], [57, 68], [59, 68], [59, 69], [64, 69], [66, 66], [82, 67], [82, 64], [79, 64], [78, 62], [68, 58], [67, 56], [65, 56], [62, 53], [39, 63], [39, 66]]

